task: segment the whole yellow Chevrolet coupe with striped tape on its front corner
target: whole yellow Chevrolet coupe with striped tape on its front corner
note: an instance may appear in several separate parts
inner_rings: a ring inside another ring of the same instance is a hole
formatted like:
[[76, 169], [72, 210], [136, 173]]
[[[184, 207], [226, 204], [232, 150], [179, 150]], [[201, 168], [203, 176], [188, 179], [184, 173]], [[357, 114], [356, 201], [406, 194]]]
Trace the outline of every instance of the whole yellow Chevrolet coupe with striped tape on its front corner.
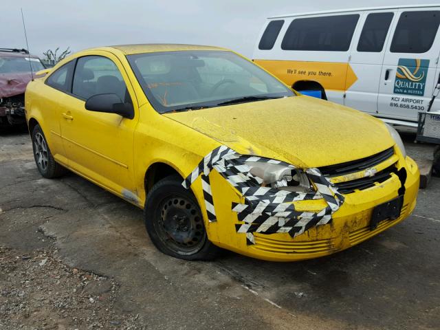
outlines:
[[78, 52], [25, 94], [36, 166], [144, 209], [162, 252], [269, 261], [344, 250], [415, 208], [419, 170], [380, 120], [195, 45]]

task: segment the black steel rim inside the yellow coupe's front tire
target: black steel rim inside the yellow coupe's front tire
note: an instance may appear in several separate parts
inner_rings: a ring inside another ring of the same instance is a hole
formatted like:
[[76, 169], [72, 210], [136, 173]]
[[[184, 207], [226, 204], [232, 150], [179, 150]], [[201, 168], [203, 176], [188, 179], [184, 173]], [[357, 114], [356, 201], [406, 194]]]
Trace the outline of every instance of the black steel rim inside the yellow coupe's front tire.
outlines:
[[205, 244], [206, 234], [199, 207], [184, 196], [163, 199], [157, 208], [157, 236], [177, 254], [195, 254]]

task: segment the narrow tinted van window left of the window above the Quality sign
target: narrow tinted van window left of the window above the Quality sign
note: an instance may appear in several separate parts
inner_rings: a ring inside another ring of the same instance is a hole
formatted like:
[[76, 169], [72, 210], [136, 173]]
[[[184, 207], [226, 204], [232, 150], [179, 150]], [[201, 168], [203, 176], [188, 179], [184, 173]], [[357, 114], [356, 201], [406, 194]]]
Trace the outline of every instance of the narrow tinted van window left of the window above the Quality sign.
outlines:
[[376, 12], [366, 17], [358, 52], [382, 52], [393, 16], [392, 12]]

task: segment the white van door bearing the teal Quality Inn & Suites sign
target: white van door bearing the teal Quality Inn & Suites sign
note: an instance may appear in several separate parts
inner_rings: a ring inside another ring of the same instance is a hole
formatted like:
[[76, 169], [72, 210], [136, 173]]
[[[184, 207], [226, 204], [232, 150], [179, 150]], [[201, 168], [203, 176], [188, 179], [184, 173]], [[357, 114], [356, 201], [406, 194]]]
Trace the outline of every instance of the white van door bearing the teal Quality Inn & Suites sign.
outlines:
[[439, 8], [399, 10], [384, 65], [377, 98], [381, 117], [417, 121], [426, 110], [439, 58]]

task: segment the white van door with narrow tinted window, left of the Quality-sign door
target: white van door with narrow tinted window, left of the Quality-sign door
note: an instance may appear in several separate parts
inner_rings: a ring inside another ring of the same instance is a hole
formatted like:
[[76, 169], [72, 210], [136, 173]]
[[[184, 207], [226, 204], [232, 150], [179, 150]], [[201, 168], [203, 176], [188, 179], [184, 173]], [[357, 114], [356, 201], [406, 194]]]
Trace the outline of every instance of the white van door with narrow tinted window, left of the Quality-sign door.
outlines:
[[352, 45], [351, 69], [358, 76], [346, 91], [344, 104], [368, 113], [377, 113], [377, 94], [385, 55], [388, 30], [395, 13], [391, 10], [365, 12], [362, 29], [355, 34]]

